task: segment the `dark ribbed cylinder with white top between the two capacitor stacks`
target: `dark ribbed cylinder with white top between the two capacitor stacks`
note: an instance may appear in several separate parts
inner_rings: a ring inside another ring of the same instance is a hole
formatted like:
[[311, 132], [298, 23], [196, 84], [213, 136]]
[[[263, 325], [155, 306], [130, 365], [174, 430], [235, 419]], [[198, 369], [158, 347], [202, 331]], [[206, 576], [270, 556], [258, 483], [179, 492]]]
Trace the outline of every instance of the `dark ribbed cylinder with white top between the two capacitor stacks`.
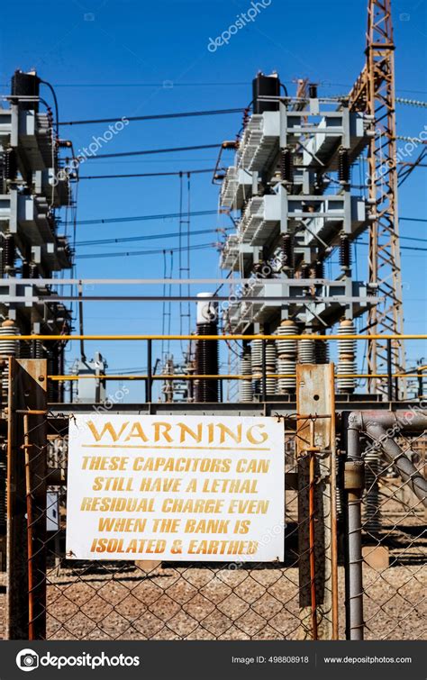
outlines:
[[[212, 298], [212, 293], [199, 293], [197, 302], [197, 335], [218, 334], [218, 303], [204, 298]], [[219, 370], [218, 340], [196, 340], [195, 372], [199, 376], [217, 376]], [[218, 402], [218, 380], [209, 378], [195, 381], [195, 401], [201, 403]]]

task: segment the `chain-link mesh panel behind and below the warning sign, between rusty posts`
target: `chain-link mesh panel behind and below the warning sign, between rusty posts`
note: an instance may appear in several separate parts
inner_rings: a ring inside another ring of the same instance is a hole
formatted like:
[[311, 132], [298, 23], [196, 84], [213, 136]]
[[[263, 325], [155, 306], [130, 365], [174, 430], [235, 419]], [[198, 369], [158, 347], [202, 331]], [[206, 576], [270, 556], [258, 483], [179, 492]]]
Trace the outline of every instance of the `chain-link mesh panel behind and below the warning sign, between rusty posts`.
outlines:
[[[50, 419], [49, 431], [49, 466], [65, 476], [68, 420]], [[286, 435], [286, 470], [293, 472], [294, 437], [292, 432]], [[286, 501], [284, 564], [71, 561], [64, 545], [66, 485], [50, 484], [48, 526], [56, 509], [59, 525], [48, 532], [46, 544], [46, 638], [297, 638], [301, 631], [296, 493], [287, 491]]]

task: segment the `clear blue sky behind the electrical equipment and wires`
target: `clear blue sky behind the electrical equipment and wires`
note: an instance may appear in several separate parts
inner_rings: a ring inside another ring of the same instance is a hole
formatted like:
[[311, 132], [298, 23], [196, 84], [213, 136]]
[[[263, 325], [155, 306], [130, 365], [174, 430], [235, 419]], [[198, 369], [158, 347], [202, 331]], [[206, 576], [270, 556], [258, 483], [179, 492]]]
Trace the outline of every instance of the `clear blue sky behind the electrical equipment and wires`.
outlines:
[[[8, 92], [15, 68], [35, 67], [50, 81], [59, 98], [60, 120], [144, 115], [249, 104], [251, 78], [262, 70], [276, 69], [290, 93], [293, 80], [308, 77], [321, 83], [322, 95], [346, 93], [363, 66], [366, 0], [323, 0], [291, 3], [272, 0], [253, 23], [242, 28], [228, 45], [207, 50], [209, 40], [227, 30], [237, 15], [250, 8], [248, 0], [26, 0], [7, 3], [1, 12], [0, 69], [2, 94]], [[399, 96], [427, 100], [425, 44], [426, 2], [393, 4], [396, 43], [396, 89]], [[44, 95], [50, 100], [49, 91]], [[398, 133], [416, 136], [425, 124], [425, 109], [399, 105]], [[213, 144], [233, 139], [241, 127], [241, 115], [184, 120], [135, 122], [106, 145], [103, 152]], [[106, 125], [62, 128], [62, 135], [82, 149], [92, 135]], [[232, 159], [229, 155], [226, 159]], [[89, 160], [81, 175], [161, 172], [212, 168], [216, 150], [198, 150], [125, 159]], [[399, 213], [425, 217], [425, 168], [416, 170], [399, 196]], [[91, 180], [80, 182], [77, 220], [156, 213], [176, 213], [179, 201], [177, 177]], [[218, 189], [209, 175], [191, 178], [192, 210], [214, 210]], [[229, 226], [225, 216], [201, 216], [191, 220], [192, 230]], [[78, 225], [77, 241], [118, 238], [177, 231], [177, 220]], [[423, 222], [401, 222], [404, 237], [425, 237]], [[215, 234], [192, 237], [192, 244], [216, 240]], [[427, 242], [403, 241], [425, 248]], [[149, 240], [115, 244], [99, 252], [162, 249], [177, 240]], [[78, 248], [77, 255], [95, 247]], [[425, 252], [403, 250], [405, 331], [426, 331]], [[359, 277], [364, 276], [367, 249], [358, 249]], [[192, 277], [221, 276], [214, 249], [191, 253]], [[174, 262], [177, 276], [177, 257]], [[99, 259], [77, 258], [78, 277], [162, 277], [163, 256]], [[126, 287], [129, 293], [141, 292]], [[103, 286], [103, 292], [108, 289]], [[150, 289], [160, 294], [161, 288]], [[177, 290], [175, 291], [177, 293]], [[172, 308], [172, 331], [179, 331], [177, 305]], [[87, 333], [160, 332], [159, 304], [88, 303]], [[112, 368], [145, 367], [142, 345], [91, 343], [101, 350]], [[159, 348], [155, 348], [155, 354]], [[77, 353], [70, 346], [68, 358]], [[410, 358], [416, 345], [408, 347]], [[131, 385], [130, 400], [138, 400], [143, 388]]]

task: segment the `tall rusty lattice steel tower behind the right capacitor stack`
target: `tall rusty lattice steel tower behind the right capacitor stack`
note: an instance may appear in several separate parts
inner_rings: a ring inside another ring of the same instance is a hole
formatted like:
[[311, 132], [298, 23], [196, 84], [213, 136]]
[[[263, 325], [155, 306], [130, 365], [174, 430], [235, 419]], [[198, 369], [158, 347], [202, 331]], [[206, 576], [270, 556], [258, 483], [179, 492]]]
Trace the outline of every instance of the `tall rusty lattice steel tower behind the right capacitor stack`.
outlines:
[[[372, 333], [404, 332], [402, 273], [397, 217], [397, 159], [395, 132], [395, 43], [390, 0], [368, 0], [367, 61], [350, 92], [350, 109], [368, 113], [375, 121], [375, 136], [368, 151], [369, 283], [381, 301], [370, 308]], [[368, 371], [386, 368], [386, 341], [368, 343]], [[392, 369], [404, 373], [404, 343], [394, 340]], [[370, 380], [369, 391], [386, 394], [386, 382]], [[395, 398], [399, 395], [395, 394]], [[402, 385], [401, 396], [404, 396]]]

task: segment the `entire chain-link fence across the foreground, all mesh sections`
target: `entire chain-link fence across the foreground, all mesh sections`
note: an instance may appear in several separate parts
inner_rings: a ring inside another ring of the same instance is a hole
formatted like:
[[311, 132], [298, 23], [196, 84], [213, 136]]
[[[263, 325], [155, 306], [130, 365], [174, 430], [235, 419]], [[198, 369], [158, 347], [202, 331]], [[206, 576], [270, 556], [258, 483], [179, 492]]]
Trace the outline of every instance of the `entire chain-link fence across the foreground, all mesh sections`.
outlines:
[[[31, 499], [27, 505], [27, 538], [37, 524], [44, 527], [46, 523], [47, 530], [34, 530], [32, 553], [28, 556], [28, 565], [33, 563], [34, 567], [29, 588], [34, 599], [30, 626], [41, 623], [46, 639], [313, 637], [309, 612], [313, 589], [315, 616], [320, 624], [322, 617], [330, 619], [332, 565], [324, 540], [322, 508], [316, 507], [313, 517], [313, 508], [305, 501], [311, 485], [319, 487], [320, 498], [330, 494], [330, 486], [318, 472], [311, 481], [302, 475], [304, 455], [300, 447], [297, 456], [298, 437], [296, 422], [290, 418], [286, 421], [284, 451], [287, 481], [283, 564], [77, 561], [65, 555], [68, 416], [39, 416], [36, 424], [29, 417], [20, 444], [23, 451], [29, 445], [26, 450], [31, 452], [31, 470], [26, 467], [31, 473], [30, 479], [27, 477], [31, 486], [31, 493], [26, 494], [27, 503]], [[422, 639], [426, 635], [425, 510], [409, 482], [403, 482], [384, 458], [377, 441], [367, 434], [364, 437], [366, 476], [361, 530], [365, 638]], [[425, 470], [426, 433], [413, 439], [399, 433], [399, 442], [416, 469]], [[343, 454], [339, 450], [339, 566], [334, 594], [340, 609], [341, 639], [345, 637], [346, 596], [345, 494], [340, 481]], [[331, 452], [322, 455], [331, 457]], [[46, 463], [42, 478], [41, 461]], [[308, 538], [313, 520], [314, 546]], [[268, 534], [263, 539], [268, 541]], [[24, 543], [22, 549], [25, 552]], [[310, 570], [313, 549], [314, 576]], [[46, 559], [43, 573], [37, 563], [41, 555]], [[10, 568], [14, 569], [13, 562]], [[45, 607], [43, 596], [39, 596], [44, 587]], [[5, 624], [5, 581], [3, 587], [0, 585], [0, 618]], [[2, 636], [5, 637], [5, 628]]]

